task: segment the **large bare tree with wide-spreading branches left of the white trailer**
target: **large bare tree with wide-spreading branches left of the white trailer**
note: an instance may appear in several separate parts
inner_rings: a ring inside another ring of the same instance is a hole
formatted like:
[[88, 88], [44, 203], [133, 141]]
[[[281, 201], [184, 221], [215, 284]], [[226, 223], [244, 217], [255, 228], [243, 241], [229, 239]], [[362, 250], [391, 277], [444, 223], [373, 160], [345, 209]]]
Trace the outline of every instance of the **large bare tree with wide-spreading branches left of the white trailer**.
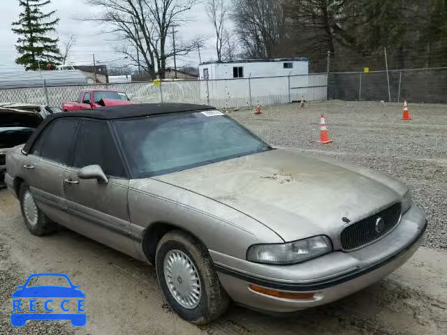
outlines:
[[133, 65], [140, 65], [153, 79], [156, 78], [156, 70], [161, 79], [165, 77], [167, 59], [196, 48], [196, 41], [179, 43], [174, 52], [168, 34], [174, 25], [185, 20], [184, 14], [198, 0], [85, 1], [101, 11], [84, 20], [111, 27], [108, 32], [117, 34], [125, 44], [118, 51], [129, 57]]

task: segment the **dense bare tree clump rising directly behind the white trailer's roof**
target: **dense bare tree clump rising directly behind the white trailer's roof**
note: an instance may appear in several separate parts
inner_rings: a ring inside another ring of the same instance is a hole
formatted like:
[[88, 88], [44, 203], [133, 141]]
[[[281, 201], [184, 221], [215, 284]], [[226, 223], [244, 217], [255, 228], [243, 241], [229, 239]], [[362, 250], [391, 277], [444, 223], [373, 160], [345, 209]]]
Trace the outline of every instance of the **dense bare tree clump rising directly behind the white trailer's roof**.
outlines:
[[284, 0], [233, 0], [232, 11], [247, 57], [275, 57], [286, 36]]

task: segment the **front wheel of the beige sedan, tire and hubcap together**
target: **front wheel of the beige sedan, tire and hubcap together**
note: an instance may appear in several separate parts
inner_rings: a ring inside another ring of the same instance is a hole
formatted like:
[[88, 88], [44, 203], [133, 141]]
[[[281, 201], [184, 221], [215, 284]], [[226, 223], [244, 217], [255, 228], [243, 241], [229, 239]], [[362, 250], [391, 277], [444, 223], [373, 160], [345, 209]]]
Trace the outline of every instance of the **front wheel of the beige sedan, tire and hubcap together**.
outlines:
[[170, 306], [193, 324], [211, 322], [230, 304], [206, 248], [182, 230], [159, 241], [156, 274]]

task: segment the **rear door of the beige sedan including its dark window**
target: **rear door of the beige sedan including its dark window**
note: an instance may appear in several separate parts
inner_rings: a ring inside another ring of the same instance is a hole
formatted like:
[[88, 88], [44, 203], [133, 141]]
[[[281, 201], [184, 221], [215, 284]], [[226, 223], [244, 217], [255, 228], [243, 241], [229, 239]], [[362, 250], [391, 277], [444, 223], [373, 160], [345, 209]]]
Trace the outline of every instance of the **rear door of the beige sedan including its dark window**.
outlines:
[[38, 207], [53, 221], [66, 225], [62, 180], [68, 168], [78, 118], [55, 119], [41, 132], [24, 158], [24, 179]]

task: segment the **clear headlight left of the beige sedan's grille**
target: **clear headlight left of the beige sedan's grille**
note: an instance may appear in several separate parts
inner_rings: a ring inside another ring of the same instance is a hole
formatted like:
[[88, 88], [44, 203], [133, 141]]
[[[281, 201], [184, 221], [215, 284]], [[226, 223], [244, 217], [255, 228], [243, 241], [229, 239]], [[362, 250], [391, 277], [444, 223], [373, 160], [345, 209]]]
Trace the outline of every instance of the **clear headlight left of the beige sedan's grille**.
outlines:
[[330, 239], [316, 236], [284, 244], [255, 244], [247, 251], [247, 260], [267, 264], [295, 264], [330, 251]]

